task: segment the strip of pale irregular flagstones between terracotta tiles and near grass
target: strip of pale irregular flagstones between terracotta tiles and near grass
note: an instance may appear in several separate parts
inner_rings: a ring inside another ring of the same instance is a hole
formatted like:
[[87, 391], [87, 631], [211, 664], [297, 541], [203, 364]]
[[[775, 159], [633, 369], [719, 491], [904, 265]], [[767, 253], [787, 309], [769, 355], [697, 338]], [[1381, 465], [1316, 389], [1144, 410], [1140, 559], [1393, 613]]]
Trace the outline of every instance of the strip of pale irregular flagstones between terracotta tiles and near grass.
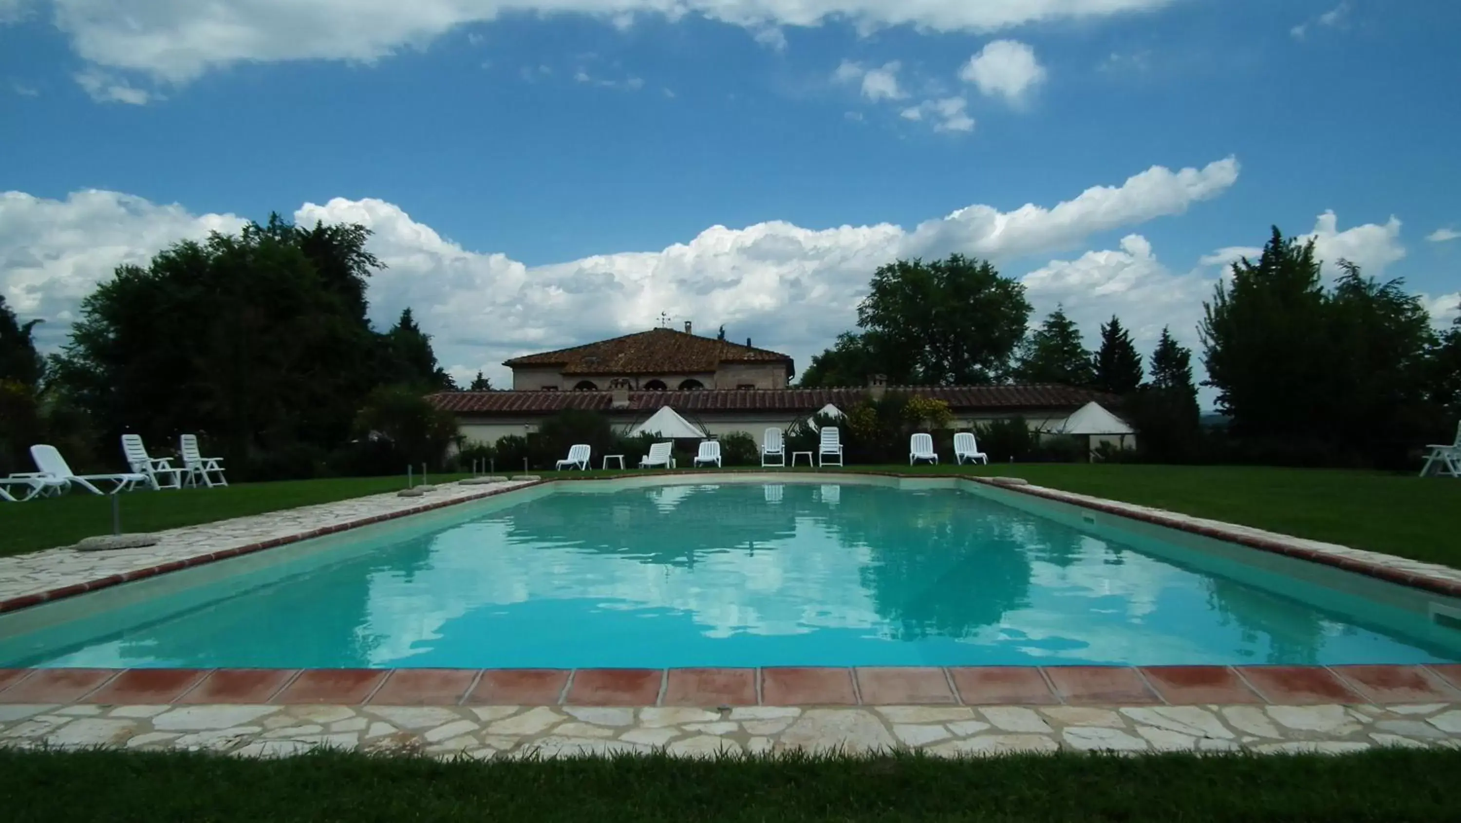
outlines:
[[0, 705], [0, 746], [206, 750], [316, 747], [438, 757], [787, 750], [934, 756], [1050, 751], [1346, 753], [1461, 747], [1461, 703], [1315, 706], [270, 706]]

